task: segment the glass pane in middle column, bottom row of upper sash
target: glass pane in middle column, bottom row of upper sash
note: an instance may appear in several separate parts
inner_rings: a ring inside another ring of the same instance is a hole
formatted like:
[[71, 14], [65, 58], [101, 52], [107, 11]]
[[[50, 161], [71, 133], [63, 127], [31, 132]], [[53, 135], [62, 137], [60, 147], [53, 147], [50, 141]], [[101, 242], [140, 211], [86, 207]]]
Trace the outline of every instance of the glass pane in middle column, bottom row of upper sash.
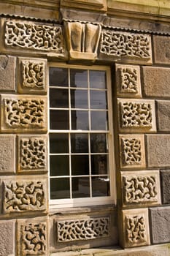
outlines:
[[72, 110], [72, 129], [88, 128], [88, 111]]

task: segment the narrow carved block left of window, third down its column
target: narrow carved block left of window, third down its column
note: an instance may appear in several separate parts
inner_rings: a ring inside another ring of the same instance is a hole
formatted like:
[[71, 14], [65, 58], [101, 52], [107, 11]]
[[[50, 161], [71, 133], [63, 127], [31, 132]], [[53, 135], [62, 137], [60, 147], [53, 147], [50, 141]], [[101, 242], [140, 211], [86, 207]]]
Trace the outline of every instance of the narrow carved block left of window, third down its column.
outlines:
[[46, 136], [18, 136], [18, 171], [47, 171]]

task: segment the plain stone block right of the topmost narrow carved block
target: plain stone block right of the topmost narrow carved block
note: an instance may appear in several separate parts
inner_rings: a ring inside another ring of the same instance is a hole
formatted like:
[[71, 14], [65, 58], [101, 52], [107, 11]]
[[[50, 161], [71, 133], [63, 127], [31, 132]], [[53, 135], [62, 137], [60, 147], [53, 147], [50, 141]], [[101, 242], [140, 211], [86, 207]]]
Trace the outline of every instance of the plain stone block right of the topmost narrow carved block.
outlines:
[[170, 68], [143, 67], [144, 94], [150, 97], [170, 97]]

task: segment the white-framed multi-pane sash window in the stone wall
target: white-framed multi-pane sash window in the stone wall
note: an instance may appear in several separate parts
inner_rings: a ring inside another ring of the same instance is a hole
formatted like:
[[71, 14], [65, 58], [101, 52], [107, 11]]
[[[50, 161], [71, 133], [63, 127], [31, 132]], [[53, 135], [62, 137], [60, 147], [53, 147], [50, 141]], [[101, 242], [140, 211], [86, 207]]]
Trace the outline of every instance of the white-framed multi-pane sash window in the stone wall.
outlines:
[[50, 204], [113, 203], [109, 67], [50, 64]]

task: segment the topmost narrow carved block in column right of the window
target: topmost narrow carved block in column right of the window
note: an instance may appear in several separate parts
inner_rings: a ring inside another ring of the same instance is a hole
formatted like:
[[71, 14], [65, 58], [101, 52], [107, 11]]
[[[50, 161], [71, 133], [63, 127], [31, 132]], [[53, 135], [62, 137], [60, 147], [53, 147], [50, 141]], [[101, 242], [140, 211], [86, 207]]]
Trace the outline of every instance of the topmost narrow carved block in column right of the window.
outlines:
[[115, 65], [117, 96], [141, 97], [141, 82], [139, 66]]

